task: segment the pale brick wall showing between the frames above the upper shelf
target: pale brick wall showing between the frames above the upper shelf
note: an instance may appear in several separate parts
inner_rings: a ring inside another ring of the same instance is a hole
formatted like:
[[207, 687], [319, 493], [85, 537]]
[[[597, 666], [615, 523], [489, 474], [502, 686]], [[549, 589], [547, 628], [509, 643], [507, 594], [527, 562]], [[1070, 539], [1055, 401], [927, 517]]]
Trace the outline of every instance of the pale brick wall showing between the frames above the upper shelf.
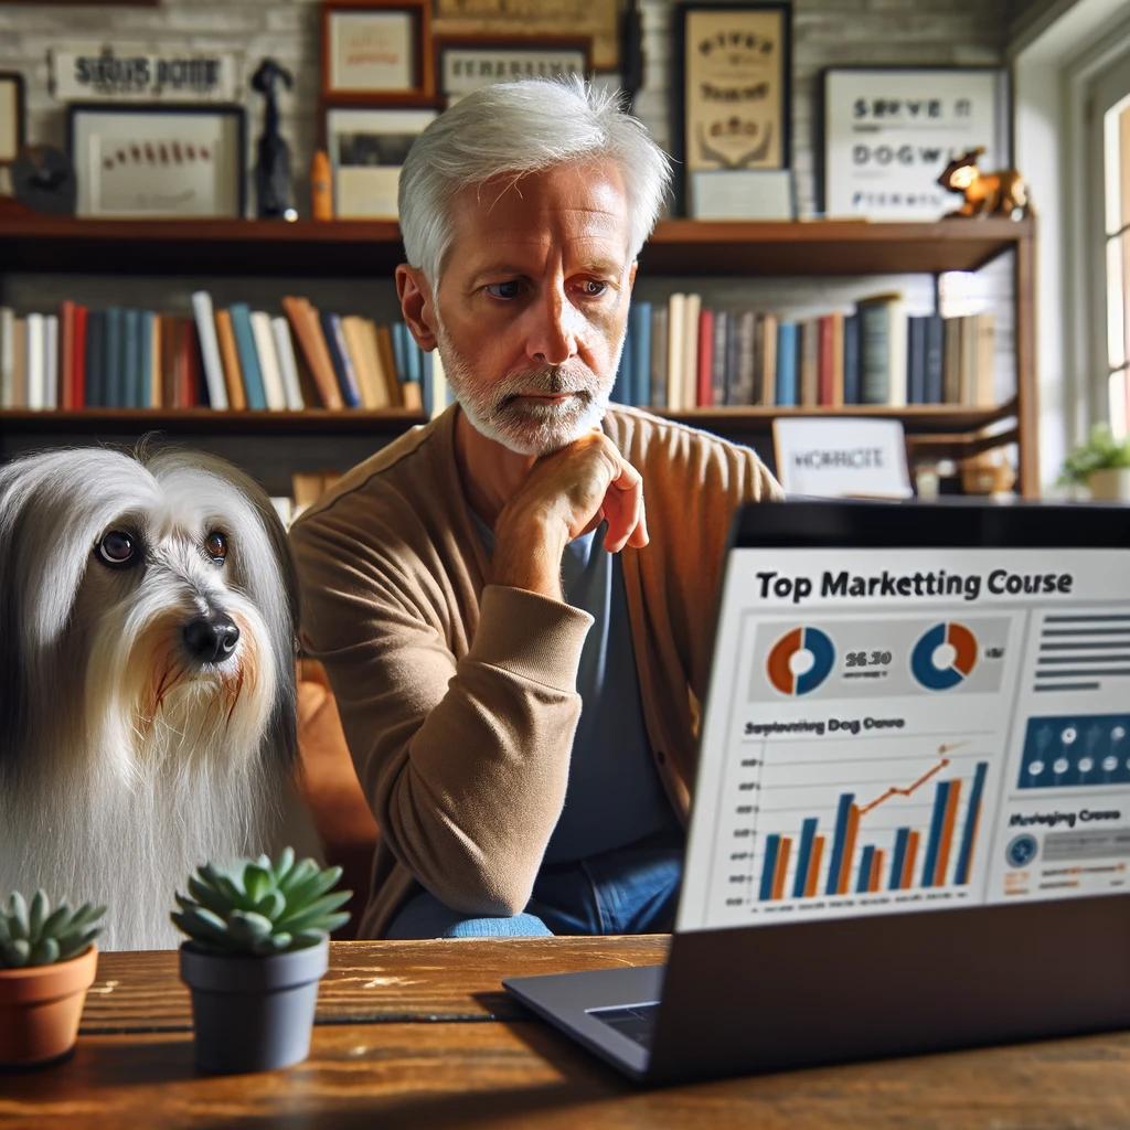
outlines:
[[[611, 0], [608, 0], [611, 2]], [[670, 0], [642, 0], [646, 75], [636, 112], [655, 138], [669, 133], [667, 92]], [[1016, 0], [796, 0], [793, 7], [793, 167], [801, 215], [810, 215], [814, 96], [823, 67], [837, 63], [997, 63]], [[118, 43], [225, 49], [244, 55], [243, 88], [251, 147], [262, 122], [262, 99], [246, 86], [259, 60], [289, 68], [295, 88], [281, 103], [290, 142], [299, 211], [308, 210], [306, 172], [316, 137], [319, 19], [316, 0], [162, 0], [160, 7], [0, 6], [0, 70], [27, 79], [29, 134], [64, 142], [62, 107], [47, 93], [47, 49], [56, 43], [112, 36]], [[249, 193], [250, 200], [250, 193]], [[250, 201], [253, 209], [254, 202]]]

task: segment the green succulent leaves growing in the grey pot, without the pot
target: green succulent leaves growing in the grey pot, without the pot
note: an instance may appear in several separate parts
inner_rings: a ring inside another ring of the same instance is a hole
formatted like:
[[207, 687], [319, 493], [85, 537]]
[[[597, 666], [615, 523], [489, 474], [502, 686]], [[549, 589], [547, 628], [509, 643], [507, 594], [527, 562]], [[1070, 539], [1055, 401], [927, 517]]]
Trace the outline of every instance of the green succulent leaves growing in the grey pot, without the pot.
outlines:
[[206, 863], [189, 879], [189, 894], [175, 896], [181, 909], [171, 918], [205, 949], [261, 956], [305, 949], [349, 921], [333, 913], [353, 895], [331, 890], [340, 878], [340, 867], [296, 863], [290, 847], [275, 862], [260, 855], [225, 868]]

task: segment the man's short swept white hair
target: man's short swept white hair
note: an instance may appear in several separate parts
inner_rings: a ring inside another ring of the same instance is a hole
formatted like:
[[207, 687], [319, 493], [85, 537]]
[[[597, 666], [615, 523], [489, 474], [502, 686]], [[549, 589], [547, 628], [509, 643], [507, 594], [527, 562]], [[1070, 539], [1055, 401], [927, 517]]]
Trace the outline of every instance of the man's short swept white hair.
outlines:
[[400, 173], [408, 262], [435, 288], [452, 240], [451, 201], [498, 176], [609, 160], [624, 179], [631, 259], [651, 235], [671, 183], [670, 159], [619, 94], [580, 78], [520, 79], [476, 90], [415, 140]]

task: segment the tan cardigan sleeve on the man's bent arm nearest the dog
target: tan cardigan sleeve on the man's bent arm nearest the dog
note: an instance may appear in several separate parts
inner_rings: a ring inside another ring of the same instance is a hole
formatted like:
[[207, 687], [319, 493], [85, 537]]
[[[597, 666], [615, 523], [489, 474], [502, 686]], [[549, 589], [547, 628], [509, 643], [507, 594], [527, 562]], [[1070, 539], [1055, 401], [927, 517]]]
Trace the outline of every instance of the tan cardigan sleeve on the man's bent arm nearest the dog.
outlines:
[[410, 555], [351, 542], [324, 515], [292, 544], [303, 643], [329, 675], [381, 836], [454, 910], [519, 913], [565, 799], [592, 618], [488, 585], [457, 659], [442, 586]]

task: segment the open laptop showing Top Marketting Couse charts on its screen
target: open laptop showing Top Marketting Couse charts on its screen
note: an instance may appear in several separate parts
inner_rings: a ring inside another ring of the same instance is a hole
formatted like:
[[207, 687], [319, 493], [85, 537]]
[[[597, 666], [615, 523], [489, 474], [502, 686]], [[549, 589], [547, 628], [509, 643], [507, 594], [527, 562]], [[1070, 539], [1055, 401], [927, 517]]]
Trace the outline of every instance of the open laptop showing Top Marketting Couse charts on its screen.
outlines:
[[1130, 1026], [1130, 508], [745, 507], [666, 966], [508, 977], [675, 1084]]

